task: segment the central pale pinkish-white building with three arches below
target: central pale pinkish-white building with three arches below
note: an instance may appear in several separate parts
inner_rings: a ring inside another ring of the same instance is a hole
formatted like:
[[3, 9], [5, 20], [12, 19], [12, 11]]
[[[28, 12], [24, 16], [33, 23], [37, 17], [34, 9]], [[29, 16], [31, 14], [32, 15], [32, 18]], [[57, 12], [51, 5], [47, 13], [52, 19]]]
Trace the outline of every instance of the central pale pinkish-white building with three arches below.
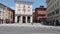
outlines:
[[16, 23], [32, 23], [32, 2], [17, 0], [15, 1], [15, 8]]

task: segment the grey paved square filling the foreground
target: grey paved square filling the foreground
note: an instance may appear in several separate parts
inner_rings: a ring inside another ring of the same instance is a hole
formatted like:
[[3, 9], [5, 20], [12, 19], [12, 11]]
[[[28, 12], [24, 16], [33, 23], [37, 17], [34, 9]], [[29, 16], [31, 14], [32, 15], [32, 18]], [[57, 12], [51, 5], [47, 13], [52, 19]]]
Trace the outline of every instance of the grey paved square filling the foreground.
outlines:
[[27, 26], [0, 26], [0, 34], [59, 34], [60, 29], [27, 27]]

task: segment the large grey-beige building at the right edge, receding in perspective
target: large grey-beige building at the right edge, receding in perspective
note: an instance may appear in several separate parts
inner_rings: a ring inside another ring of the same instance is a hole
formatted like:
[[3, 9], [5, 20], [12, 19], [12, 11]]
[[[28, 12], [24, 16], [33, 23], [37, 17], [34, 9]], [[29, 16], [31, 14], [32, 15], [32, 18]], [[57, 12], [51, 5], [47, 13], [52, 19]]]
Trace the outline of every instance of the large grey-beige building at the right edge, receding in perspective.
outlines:
[[46, 0], [47, 3], [47, 21], [51, 25], [60, 23], [60, 0]]

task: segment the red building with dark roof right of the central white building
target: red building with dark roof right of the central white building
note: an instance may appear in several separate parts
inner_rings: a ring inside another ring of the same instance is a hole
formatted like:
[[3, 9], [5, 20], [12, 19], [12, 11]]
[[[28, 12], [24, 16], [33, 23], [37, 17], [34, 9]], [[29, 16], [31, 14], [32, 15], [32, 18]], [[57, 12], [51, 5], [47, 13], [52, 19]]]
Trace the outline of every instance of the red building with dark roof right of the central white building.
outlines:
[[46, 21], [46, 17], [46, 8], [44, 8], [44, 6], [35, 9], [33, 17], [34, 22], [44, 22]]

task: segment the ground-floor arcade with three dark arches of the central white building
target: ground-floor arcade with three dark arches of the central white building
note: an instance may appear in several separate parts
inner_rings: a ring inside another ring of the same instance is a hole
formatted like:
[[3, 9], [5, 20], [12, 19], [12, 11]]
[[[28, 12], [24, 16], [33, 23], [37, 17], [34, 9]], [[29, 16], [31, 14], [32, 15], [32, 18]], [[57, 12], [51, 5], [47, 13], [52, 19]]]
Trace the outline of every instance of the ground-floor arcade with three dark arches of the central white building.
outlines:
[[16, 16], [17, 23], [32, 23], [32, 16]]

